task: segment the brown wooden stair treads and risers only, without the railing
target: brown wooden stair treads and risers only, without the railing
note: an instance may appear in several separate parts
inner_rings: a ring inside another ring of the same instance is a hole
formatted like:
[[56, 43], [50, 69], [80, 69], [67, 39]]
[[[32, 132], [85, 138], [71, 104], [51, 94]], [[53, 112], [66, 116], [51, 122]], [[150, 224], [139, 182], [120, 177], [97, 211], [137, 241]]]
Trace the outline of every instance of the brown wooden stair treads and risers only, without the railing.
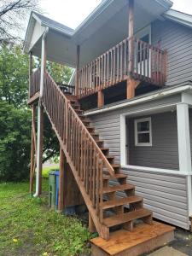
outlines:
[[[103, 170], [103, 201], [99, 205], [103, 212], [102, 224], [107, 226], [108, 229], [121, 225], [122, 228], [130, 231], [133, 230], [133, 222], [137, 219], [142, 219], [143, 222], [152, 224], [152, 212], [143, 208], [143, 197], [135, 195], [135, 186], [127, 183], [127, 175], [121, 171], [119, 165], [114, 164], [114, 157], [110, 155], [109, 148], [104, 148], [104, 142], [100, 140], [99, 134], [91, 126], [90, 119], [85, 117], [83, 111], [80, 109], [77, 96], [67, 96], [67, 99], [114, 170], [113, 176], [108, 175]], [[116, 183], [112, 185], [110, 183], [111, 181], [115, 181]], [[118, 192], [125, 192], [125, 197], [120, 198], [117, 195]], [[125, 209], [125, 206], [129, 206], [129, 208], [126, 207]], [[108, 217], [108, 210], [113, 214], [110, 217]]]

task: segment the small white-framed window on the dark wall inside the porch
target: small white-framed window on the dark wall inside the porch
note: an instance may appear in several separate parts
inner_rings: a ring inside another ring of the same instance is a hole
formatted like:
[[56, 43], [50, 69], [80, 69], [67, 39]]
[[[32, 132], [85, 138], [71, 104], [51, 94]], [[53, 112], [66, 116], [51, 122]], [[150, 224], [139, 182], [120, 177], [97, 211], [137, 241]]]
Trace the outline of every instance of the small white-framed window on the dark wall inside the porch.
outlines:
[[152, 146], [151, 118], [135, 120], [135, 145]]

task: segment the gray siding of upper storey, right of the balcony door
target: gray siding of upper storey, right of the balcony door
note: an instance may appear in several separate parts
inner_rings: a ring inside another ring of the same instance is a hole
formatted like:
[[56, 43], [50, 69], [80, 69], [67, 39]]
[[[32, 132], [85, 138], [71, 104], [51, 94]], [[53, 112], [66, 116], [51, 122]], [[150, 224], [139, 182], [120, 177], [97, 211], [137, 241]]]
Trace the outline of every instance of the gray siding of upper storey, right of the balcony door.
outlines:
[[192, 80], [192, 30], [176, 22], [165, 20], [152, 24], [152, 44], [160, 45], [168, 53], [166, 85]]

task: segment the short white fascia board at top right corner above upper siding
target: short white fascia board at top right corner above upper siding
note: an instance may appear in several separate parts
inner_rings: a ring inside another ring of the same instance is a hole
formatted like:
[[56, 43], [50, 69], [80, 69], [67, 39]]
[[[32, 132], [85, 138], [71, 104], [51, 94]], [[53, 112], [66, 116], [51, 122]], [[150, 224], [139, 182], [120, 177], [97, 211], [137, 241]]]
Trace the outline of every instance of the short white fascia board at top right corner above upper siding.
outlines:
[[192, 15], [184, 14], [174, 9], [169, 9], [163, 17], [182, 24], [183, 26], [192, 27]]

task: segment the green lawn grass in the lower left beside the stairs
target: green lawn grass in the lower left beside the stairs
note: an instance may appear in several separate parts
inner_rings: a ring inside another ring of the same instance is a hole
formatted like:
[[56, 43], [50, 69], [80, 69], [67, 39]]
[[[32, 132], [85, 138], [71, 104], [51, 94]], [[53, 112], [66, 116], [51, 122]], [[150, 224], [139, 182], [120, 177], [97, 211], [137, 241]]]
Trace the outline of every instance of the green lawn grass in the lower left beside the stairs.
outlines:
[[47, 196], [32, 198], [28, 189], [28, 183], [0, 183], [0, 255], [89, 253], [90, 234], [81, 221], [49, 210]]

